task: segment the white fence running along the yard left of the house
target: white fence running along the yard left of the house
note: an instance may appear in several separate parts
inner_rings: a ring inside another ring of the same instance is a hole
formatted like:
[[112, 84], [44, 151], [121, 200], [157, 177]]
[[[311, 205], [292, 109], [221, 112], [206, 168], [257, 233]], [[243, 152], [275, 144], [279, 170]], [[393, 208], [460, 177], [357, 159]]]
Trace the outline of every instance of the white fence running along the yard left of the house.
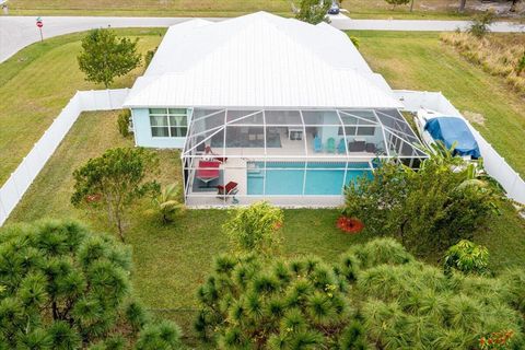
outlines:
[[0, 188], [0, 225], [30, 188], [82, 112], [120, 109], [128, 89], [78, 91]]

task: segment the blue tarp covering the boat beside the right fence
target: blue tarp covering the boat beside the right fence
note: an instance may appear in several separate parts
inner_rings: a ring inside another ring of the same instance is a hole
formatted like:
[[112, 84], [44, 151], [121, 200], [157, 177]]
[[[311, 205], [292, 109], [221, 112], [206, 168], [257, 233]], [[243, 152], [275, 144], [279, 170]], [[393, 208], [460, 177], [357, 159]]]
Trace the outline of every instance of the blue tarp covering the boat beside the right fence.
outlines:
[[439, 117], [430, 119], [424, 129], [429, 131], [434, 140], [441, 140], [446, 148], [456, 142], [455, 153], [458, 155], [470, 155], [474, 159], [481, 156], [478, 142], [474, 138], [468, 126], [460, 118]]

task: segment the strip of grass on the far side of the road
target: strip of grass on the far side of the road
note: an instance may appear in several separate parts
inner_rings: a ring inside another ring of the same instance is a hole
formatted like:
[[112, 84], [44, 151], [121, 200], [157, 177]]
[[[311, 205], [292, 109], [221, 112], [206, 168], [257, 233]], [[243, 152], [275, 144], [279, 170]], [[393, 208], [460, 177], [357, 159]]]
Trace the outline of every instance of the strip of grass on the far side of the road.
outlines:
[[[299, 0], [293, 0], [299, 3]], [[458, 0], [415, 1], [395, 9], [384, 0], [343, 0], [342, 8], [353, 19], [460, 20]], [[237, 16], [256, 11], [292, 15], [290, 0], [10, 0], [16, 15], [121, 15], [121, 16]]]

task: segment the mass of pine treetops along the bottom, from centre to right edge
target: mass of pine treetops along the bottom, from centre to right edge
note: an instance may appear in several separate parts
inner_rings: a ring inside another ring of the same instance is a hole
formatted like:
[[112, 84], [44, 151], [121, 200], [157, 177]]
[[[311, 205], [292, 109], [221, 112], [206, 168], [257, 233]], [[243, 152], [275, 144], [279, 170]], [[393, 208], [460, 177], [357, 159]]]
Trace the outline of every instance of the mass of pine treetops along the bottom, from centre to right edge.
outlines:
[[196, 330], [219, 349], [523, 349], [525, 272], [448, 273], [392, 238], [316, 257], [225, 255], [199, 289]]

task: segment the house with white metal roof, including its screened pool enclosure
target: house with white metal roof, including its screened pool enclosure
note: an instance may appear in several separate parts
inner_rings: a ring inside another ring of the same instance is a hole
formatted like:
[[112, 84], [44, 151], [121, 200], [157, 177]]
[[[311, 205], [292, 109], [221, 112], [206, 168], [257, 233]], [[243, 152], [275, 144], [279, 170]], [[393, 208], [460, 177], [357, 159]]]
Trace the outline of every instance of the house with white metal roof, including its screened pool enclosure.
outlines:
[[378, 160], [425, 156], [345, 33], [266, 12], [170, 27], [125, 106], [137, 145], [182, 150], [190, 207], [337, 206]]

